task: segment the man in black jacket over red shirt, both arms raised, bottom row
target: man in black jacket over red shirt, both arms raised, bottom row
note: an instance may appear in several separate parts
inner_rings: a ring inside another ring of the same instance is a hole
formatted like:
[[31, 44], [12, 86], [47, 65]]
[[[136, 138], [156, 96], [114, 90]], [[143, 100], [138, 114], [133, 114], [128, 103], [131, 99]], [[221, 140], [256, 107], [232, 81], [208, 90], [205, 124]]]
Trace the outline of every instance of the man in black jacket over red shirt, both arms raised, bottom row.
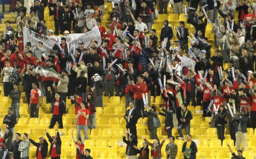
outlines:
[[46, 129], [44, 129], [46, 136], [48, 138], [48, 141], [51, 143], [50, 147], [50, 156], [52, 159], [60, 159], [60, 154], [61, 154], [61, 140], [60, 140], [60, 135], [59, 135], [59, 129], [56, 129], [57, 135], [55, 136], [50, 136], [49, 133], [47, 133]]

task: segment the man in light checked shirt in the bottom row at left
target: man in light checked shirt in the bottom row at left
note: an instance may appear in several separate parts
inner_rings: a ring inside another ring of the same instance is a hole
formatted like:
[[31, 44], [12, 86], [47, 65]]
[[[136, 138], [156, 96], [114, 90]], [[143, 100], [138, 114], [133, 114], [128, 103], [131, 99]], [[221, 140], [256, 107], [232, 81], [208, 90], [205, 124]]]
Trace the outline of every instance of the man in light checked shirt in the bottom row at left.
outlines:
[[23, 141], [19, 144], [20, 159], [29, 159], [30, 141], [28, 140], [28, 134], [24, 133], [22, 138]]

